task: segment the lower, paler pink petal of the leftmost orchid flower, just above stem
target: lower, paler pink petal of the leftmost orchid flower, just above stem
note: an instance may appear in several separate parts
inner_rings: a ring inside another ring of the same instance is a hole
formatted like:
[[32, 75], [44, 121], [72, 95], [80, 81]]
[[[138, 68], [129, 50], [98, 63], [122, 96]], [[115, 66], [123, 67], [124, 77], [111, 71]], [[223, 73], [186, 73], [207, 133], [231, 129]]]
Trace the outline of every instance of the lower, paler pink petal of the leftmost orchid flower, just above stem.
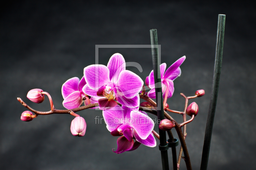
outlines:
[[75, 91], [68, 95], [62, 102], [63, 106], [67, 109], [73, 109], [81, 106], [83, 103], [83, 97], [79, 91]]

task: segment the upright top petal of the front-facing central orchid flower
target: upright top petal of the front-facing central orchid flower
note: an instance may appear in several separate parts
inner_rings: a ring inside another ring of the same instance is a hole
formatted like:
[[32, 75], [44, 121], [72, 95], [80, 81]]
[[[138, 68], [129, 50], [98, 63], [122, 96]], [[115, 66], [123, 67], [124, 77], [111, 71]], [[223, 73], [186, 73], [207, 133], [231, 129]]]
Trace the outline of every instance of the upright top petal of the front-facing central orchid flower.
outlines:
[[125, 61], [123, 55], [116, 53], [112, 55], [107, 65], [109, 69], [109, 79], [116, 82], [121, 71], [125, 70]]

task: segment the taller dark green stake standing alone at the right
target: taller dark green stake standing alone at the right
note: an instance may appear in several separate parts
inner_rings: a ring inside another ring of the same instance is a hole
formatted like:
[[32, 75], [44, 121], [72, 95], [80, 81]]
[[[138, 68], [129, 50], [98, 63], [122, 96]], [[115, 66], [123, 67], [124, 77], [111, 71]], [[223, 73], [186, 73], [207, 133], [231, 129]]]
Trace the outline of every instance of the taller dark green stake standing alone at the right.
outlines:
[[209, 113], [207, 118], [207, 124], [204, 136], [204, 147], [201, 161], [200, 170], [206, 170], [208, 165], [208, 158], [210, 152], [211, 138], [212, 138], [212, 127], [215, 115], [215, 109], [217, 104], [217, 97], [220, 83], [220, 70], [222, 63], [222, 52], [224, 44], [224, 29], [225, 29], [225, 18], [226, 15], [219, 14], [218, 28], [217, 28], [217, 40], [216, 40], [216, 51], [215, 51], [215, 64], [212, 81], [212, 94], [210, 100]]

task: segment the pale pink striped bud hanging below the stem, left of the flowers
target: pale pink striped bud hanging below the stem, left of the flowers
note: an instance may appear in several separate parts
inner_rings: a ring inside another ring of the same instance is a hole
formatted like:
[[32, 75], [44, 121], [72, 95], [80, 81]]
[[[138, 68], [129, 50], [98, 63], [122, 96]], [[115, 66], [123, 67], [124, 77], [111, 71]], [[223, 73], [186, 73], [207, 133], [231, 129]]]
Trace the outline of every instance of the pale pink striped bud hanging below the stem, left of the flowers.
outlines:
[[78, 116], [72, 122], [70, 126], [72, 135], [82, 137], [85, 134], [86, 122], [84, 118]]

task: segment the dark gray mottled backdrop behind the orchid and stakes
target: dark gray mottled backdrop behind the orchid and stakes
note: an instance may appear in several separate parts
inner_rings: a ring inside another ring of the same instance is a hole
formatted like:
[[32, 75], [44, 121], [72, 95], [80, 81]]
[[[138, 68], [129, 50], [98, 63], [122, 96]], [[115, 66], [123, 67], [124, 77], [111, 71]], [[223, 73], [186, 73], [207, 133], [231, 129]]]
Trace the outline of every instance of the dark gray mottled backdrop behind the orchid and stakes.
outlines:
[[[84, 67], [94, 64], [96, 44], [150, 44], [150, 29], [157, 29], [162, 63], [169, 67], [186, 55], [182, 74], [174, 81], [171, 109], [183, 110], [183, 92], [194, 95], [199, 113], [188, 125], [186, 138], [193, 169], [199, 169], [212, 87], [218, 14], [226, 14], [220, 89], [208, 169], [254, 169], [255, 142], [255, 7], [242, 1], [205, 4], [180, 2], [115, 3], [95, 1], [10, 1], [0, 17], [1, 55], [1, 157], [0, 169], [161, 169], [158, 147], [141, 145], [116, 154], [117, 137], [106, 125], [95, 124], [101, 111], [79, 112], [86, 120], [84, 137], [70, 132], [71, 115], [38, 116], [23, 122], [23, 99], [36, 110], [50, 110], [26, 98], [34, 88], [52, 96], [62, 106], [61, 86], [81, 78]], [[138, 62], [143, 72], [130, 67], [143, 80], [152, 70], [151, 50], [101, 48], [100, 64], [121, 53], [125, 61]], [[182, 122], [181, 115], [171, 114]], [[154, 116], [150, 115], [152, 118]], [[157, 130], [157, 127], [155, 126]], [[177, 137], [176, 131], [173, 134]], [[158, 141], [157, 141], [158, 142]], [[158, 143], [159, 144], [159, 143]], [[180, 145], [179, 145], [180, 147]], [[177, 150], [179, 150], [177, 147]], [[172, 167], [171, 150], [169, 163]], [[186, 169], [184, 160], [181, 168]], [[172, 169], [172, 168], [171, 168]]]

